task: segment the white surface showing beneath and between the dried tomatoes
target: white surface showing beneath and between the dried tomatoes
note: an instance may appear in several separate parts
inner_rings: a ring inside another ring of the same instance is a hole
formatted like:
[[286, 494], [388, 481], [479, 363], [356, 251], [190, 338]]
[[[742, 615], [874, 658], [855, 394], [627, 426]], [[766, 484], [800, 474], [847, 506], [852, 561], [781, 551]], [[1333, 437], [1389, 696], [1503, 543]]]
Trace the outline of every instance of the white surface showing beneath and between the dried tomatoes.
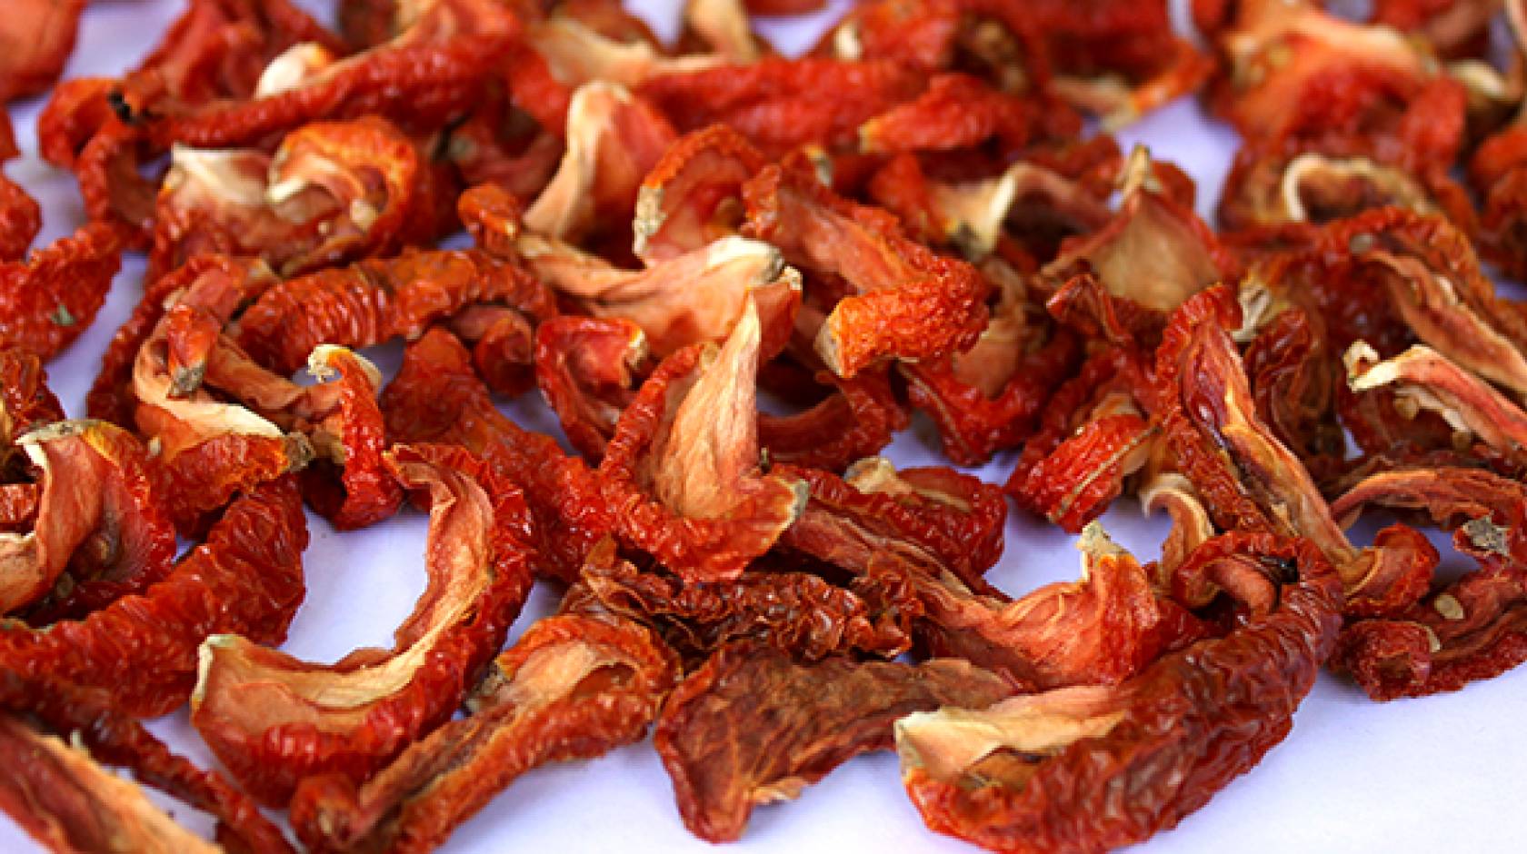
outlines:
[[[304, 0], [330, 18], [331, 0]], [[3, 3], [0, 3], [3, 6]], [[179, 14], [179, 0], [96, 0], [86, 14], [67, 76], [116, 75], [131, 67]], [[673, 0], [644, 0], [660, 34], [676, 27]], [[841, 8], [841, 6], [840, 6]], [[0, 8], [0, 14], [5, 14]], [[835, 15], [815, 15], [823, 21]], [[820, 26], [820, 24], [818, 24]], [[815, 30], [764, 24], [783, 49], [799, 49]], [[37, 159], [34, 122], [40, 102], [14, 110], [26, 159], [8, 172], [43, 203], [43, 239], [72, 230], [82, 210], [73, 178]], [[1237, 143], [1211, 125], [1197, 105], [1179, 102], [1124, 134], [1145, 140], [1156, 156], [1177, 162], [1199, 180], [1199, 209], [1208, 215]], [[70, 415], [82, 415], [84, 393], [107, 342], [140, 291], [144, 264], [130, 258], [105, 310], [73, 348], [49, 366], [52, 386]], [[397, 351], [376, 354], [391, 372]], [[522, 424], [553, 430], [539, 401], [516, 404]], [[927, 422], [918, 422], [889, 451], [898, 464], [941, 462]], [[1000, 482], [1012, 465], [1003, 454], [982, 470]], [[1165, 526], [1139, 518], [1124, 502], [1104, 525], [1145, 561], [1157, 557]], [[286, 650], [313, 660], [336, 660], [360, 645], [391, 647], [394, 627], [423, 589], [425, 522], [405, 514], [377, 528], [336, 534], [312, 517], [305, 557], [308, 596], [292, 625]], [[1070, 537], [1026, 515], [1008, 523], [1008, 552], [989, 578], [1012, 593], [1077, 576]], [[1361, 543], [1359, 543], [1361, 544]], [[1446, 551], [1445, 551], [1446, 554]], [[1457, 555], [1445, 569], [1463, 569]], [[515, 627], [547, 613], [554, 601], [538, 590]], [[1170, 833], [1138, 848], [1150, 852], [1422, 852], [1522, 851], [1527, 848], [1527, 673], [1472, 685], [1460, 694], [1370, 703], [1358, 689], [1327, 674], [1295, 718], [1293, 734], [1249, 773]], [[211, 762], [185, 715], [153, 729], [179, 752]], [[0, 772], [3, 773], [3, 772]], [[176, 814], [206, 831], [209, 822], [185, 807]], [[673, 807], [667, 776], [649, 743], [591, 762], [541, 769], [519, 779], [487, 810], [461, 827], [444, 851], [490, 852], [536, 848], [556, 851], [705, 851], [689, 836]], [[974, 851], [931, 834], [901, 788], [892, 753], [857, 758], [789, 804], [759, 808], [738, 852], [901, 852]], [[0, 819], [0, 852], [35, 846]]]

